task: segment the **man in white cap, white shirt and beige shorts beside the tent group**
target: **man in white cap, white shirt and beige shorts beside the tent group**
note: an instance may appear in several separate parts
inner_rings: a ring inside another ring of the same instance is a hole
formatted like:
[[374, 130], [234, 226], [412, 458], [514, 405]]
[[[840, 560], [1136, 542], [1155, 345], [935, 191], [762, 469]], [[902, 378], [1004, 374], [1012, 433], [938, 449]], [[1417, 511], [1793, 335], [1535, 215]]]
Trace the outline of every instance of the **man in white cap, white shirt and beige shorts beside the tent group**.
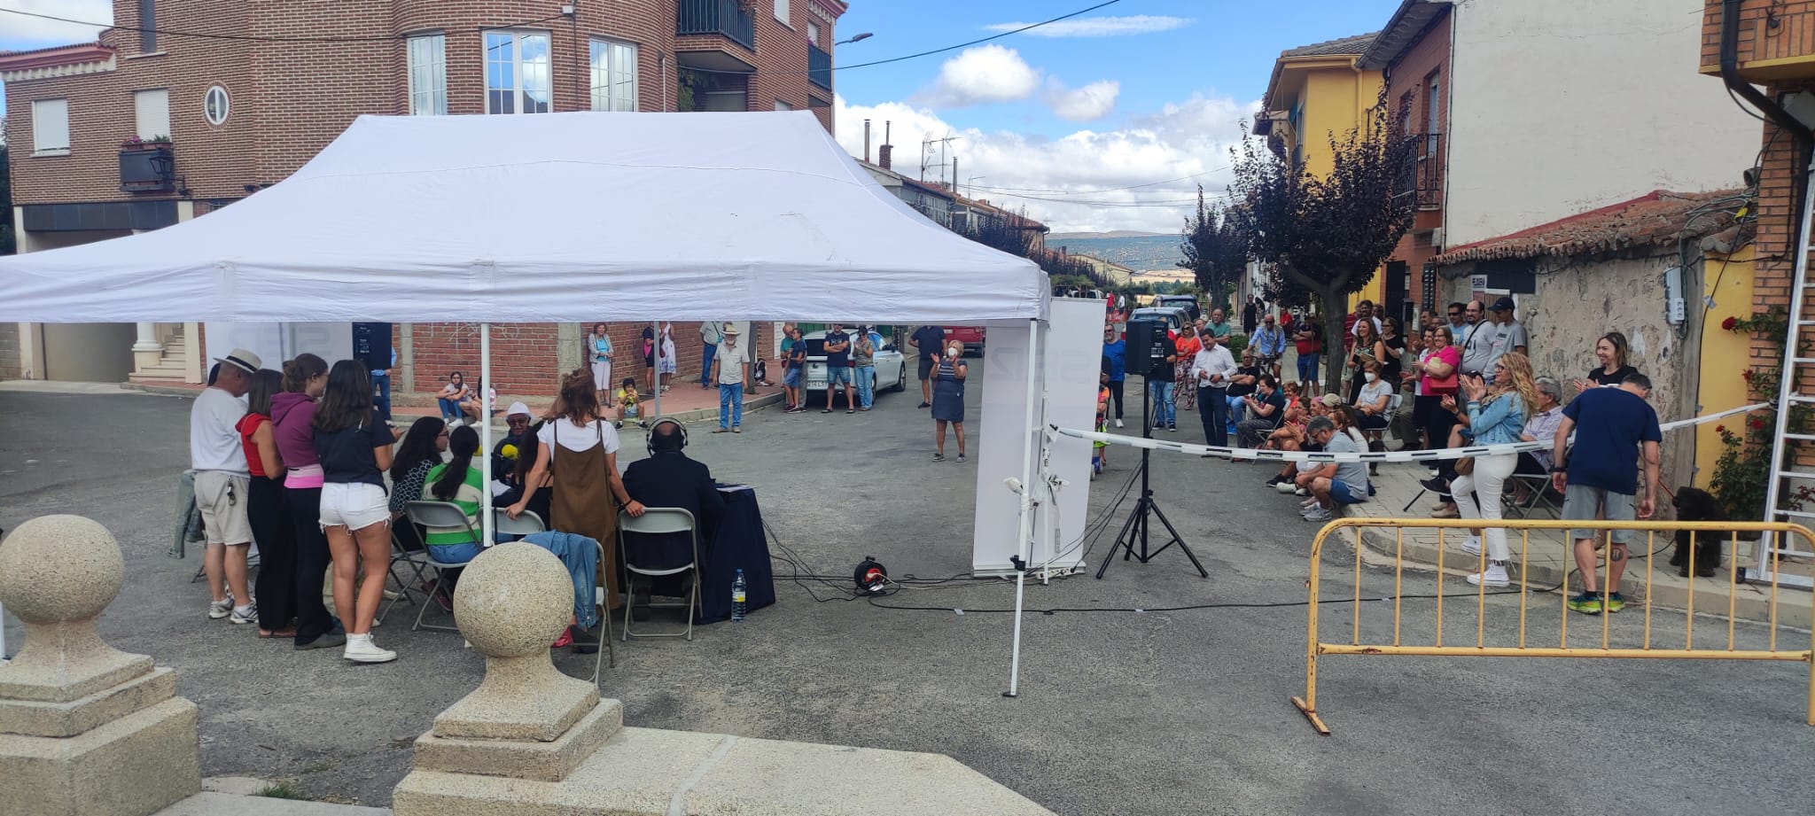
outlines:
[[247, 470], [236, 426], [245, 417], [245, 392], [252, 388], [260, 359], [245, 348], [234, 348], [216, 363], [220, 375], [189, 408], [189, 466], [196, 471], [196, 510], [201, 511], [209, 539], [201, 557], [212, 598], [209, 618], [256, 624], [258, 604], [245, 580], [245, 557], [252, 544], [245, 502], [252, 471]]

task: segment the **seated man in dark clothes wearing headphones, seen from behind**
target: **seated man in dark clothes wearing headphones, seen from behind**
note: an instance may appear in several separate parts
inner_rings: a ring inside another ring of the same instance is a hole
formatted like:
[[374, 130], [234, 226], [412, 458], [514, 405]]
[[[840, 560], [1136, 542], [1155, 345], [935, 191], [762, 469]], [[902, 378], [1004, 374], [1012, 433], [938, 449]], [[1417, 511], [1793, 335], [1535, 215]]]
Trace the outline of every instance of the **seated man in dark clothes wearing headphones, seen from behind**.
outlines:
[[[682, 448], [686, 448], [686, 428], [673, 419], [657, 419], [650, 426], [650, 457], [624, 468], [624, 490], [646, 508], [682, 508], [693, 513], [699, 540], [710, 542], [719, 528], [719, 517], [724, 515], [724, 497], [711, 481], [711, 470], [704, 462], [688, 459]], [[686, 533], [626, 535], [624, 557], [641, 568], [672, 569], [693, 560], [693, 542]], [[632, 615], [643, 620], [648, 615], [650, 586], [646, 578], [633, 580], [637, 584]], [[681, 589], [681, 595], [686, 591]]]

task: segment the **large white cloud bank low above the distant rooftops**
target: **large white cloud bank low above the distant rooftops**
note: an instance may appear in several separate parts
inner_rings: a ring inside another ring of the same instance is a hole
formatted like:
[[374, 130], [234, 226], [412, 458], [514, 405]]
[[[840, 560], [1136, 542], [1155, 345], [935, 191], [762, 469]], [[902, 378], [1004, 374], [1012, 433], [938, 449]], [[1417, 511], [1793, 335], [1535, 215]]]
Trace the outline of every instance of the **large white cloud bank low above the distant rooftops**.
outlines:
[[[1131, 116], [1113, 131], [1080, 129], [1062, 138], [955, 127], [904, 102], [851, 105], [840, 96], [835, 114], [839, 143], [853, 156], [864, 154], [864, 120], [871, 121], [871, 160], [889, 123], [895, 170], [911, 178], [920, 176], [922, 138], [957, 136], [947, 160], [958, 158], [960, 192], [1025, 209], [1055, 232], [1178, 232], [1194, 207], [1196, 185], [1207, 196], [1227, 190], [1229, 149], [1241, 140], [1240, 120], [1256, 107], [1200, 94]], [[935, 152], [927, 181], [940, 180], [938, 161]], [[949, 167], [944, 174], [949, 180]], [[984, 176], [975, 189], [973, 176]]]

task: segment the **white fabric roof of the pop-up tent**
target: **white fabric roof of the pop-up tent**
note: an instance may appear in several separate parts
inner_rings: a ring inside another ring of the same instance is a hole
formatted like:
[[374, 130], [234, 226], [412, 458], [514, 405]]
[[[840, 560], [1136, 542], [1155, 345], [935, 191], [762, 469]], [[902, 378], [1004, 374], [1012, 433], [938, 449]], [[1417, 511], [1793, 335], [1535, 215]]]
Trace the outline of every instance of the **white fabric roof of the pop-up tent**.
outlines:
[[29, 323], [980, 325], [1047, 297], [804, 111], [361, 116], [203, 218], [0, 257], [0, 321]]

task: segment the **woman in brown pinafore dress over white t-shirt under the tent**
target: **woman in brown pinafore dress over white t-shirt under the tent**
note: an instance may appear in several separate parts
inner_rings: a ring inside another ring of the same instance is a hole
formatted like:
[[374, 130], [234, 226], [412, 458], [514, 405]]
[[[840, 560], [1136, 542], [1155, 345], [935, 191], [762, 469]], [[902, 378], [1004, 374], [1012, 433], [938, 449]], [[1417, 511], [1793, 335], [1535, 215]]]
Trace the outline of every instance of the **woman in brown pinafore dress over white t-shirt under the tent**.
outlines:
[[[548, 410], [537, 439], [543, 444], [535, 452], [535, 466], [526, 484], [539, 484], [543, 475], [552, 475], [554, 502], [548, 526], [604, 544], [599, 586], [606, 588], [606, 607], [617, 609], [623, 606], [617, 595], [617, 508], [643, 515], [643, 502], [630, 499], [617, 471], [617, 430], [601, 417], [592, 372], [581, 368], [561, 379], [561, 393]], [[515, 519], [528, 500], [530, 495], [525, 495], [505, 513]], [[575, 644], [597, 647], [597, 642], [577, 636]]]

